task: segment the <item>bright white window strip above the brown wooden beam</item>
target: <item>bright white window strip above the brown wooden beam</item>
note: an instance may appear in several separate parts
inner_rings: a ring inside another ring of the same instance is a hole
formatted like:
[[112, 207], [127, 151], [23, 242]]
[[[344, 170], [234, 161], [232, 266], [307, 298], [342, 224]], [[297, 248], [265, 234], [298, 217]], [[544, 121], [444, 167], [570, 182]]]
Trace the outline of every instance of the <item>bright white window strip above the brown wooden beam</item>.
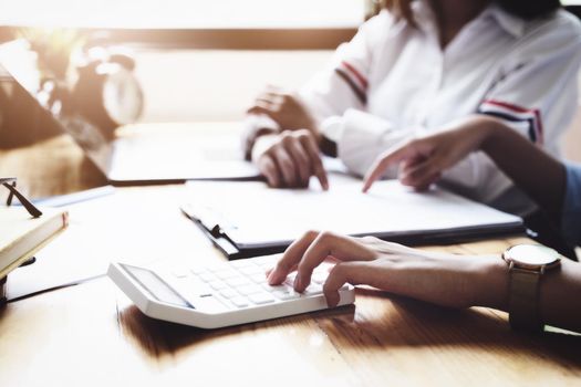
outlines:
[[0, 0], [0, 24], [69, 28], [354, 27], [364, 0]]

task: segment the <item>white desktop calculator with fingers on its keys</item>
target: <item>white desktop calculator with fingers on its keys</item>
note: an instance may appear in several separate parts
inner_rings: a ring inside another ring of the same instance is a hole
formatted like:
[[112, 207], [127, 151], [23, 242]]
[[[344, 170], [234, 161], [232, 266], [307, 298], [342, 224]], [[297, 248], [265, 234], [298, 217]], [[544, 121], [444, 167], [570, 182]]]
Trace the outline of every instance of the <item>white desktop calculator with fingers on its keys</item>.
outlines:
[[[280, 257], [280, 255], [279, 255]], [[294, 273], [270, 286], [266, 271], [277, 255], [258, 257], [211, 265], [152, 270], [112, 263], [108, 276], [147, 316], [201, 328], [246, 324], [328, 308], [322, 284], [329, 274], [323, 263], [313, 272], [311, 285], [297, 293]], [[339, 305], [355, 301], [354, 287], [339, 291]]]

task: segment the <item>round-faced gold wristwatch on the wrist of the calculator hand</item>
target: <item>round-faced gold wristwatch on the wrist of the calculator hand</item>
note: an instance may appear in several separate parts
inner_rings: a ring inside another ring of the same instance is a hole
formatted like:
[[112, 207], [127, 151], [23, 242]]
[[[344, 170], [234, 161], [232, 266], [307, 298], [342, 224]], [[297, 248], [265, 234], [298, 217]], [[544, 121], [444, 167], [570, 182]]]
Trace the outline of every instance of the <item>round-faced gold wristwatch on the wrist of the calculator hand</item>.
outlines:
[[539, 311], [539, 285], [547, 271], [559, 268], [561, 255], [553, 249], [518, 244], [502, 253], [510, 272], [508, 312], [510, 326], [539, 332], [544, 327]]

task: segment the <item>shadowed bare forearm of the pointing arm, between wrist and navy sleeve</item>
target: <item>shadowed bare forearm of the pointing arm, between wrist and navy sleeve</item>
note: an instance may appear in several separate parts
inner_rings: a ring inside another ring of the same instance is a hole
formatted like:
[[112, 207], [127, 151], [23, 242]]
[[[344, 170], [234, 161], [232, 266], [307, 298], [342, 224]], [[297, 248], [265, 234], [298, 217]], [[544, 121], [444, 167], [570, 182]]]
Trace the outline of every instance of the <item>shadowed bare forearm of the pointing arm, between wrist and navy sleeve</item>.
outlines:
[[566, 189], [561, 163], [500, 122], [486, 126], [481, 149], [549, 215], [558, 218]]

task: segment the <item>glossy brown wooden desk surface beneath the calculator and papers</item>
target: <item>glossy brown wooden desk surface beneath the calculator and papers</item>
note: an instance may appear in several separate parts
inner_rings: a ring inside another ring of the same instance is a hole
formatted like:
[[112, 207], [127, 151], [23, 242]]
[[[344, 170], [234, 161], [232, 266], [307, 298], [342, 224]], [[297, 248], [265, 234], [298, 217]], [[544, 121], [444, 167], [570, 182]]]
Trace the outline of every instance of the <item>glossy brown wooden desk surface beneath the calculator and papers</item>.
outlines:
[[[66, 138], [0, 153], [7, 172], [34, 197], [103, 182]], [[103, 200], [118, 206], [111, 211], [73, 208], [71, 229], [11, 274], [10, 289], [113, 259], [224, 259], [176, 210], [183, 188], [123, 188]], [[429, 249], [492, 253], [516, 242]], [[492, 310], [449, 311], [363, 290], [355, 306], [218, 331], [148, 318], [106, 278], [0, 310], [2, 386], [572, 386], [580, 348], [574, 336], [515, 333]]]

